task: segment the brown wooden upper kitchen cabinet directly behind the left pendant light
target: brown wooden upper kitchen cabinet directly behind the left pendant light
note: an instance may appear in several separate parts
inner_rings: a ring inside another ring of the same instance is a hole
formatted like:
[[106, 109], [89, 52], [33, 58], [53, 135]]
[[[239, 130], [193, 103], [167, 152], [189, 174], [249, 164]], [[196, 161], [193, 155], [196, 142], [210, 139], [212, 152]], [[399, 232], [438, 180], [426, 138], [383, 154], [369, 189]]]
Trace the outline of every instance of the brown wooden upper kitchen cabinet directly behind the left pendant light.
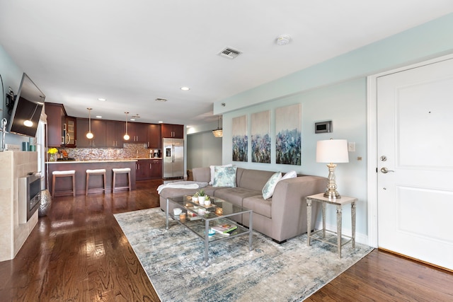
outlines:
[[77, 146], [79, 148], [102, 148], [106, 144], [106, 128], [105, 121], [91, 119], [91, 133], [93, 133], [93, 139], [87, 139], [86, 133], [88, 133], [89, 123], [86, 118], [77, 119]]

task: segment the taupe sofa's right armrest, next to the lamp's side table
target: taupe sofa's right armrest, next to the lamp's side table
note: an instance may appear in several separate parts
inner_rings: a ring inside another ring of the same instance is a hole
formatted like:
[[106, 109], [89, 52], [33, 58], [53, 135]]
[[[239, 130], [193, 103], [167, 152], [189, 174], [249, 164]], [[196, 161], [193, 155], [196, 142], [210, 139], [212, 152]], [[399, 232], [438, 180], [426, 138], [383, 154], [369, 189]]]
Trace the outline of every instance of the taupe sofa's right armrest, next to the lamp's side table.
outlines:
[[[306, 196], [326, 189], [326, 178], [302, 176], [277, 183], [272, 197], [273, 238], [286, 240], [306, 233]], [[313, 228], [316, 222], [317, 202], [312, 211]]]

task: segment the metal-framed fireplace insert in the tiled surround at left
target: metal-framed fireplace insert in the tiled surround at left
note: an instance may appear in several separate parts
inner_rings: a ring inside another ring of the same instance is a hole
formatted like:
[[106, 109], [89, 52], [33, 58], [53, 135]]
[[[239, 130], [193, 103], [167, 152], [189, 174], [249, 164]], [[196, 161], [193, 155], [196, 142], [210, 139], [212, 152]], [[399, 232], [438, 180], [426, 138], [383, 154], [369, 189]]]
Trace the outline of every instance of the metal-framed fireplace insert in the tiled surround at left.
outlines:
[[41, 176], [19, 178], [19, 223], [27, 223], [40, 207]]

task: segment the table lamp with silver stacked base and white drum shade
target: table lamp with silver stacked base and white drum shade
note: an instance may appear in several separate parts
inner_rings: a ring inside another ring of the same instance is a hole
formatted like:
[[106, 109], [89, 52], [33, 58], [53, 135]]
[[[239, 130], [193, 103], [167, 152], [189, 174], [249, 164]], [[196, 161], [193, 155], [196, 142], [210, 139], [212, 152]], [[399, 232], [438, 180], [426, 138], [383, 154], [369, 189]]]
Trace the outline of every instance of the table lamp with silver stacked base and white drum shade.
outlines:
[[328, 182], [324, 197], [341, 198], [335, 182], [336, 163], [349, 163], [348, 141], [346, 139], [326, 139], [316, 143], [316, 163], [328, 163]]

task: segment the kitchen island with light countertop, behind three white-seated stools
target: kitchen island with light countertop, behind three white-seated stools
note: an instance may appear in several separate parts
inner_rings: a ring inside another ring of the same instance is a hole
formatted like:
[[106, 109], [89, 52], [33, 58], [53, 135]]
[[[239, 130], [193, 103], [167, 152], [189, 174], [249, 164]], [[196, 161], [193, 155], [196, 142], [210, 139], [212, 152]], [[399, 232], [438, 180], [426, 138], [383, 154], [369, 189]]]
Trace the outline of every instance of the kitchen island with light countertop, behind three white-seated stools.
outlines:
[[[135, 170], [137, 159], [113, 159], [113, 160], [92, 160], [92, 161], [48, 161], [47, 178], [48, 189], [52, 192], [52, 172], [62, 170], [76, 171], [76, 195], [85, 194], [86, 170], [105, 169], [105, 192], [112, 192], [113, 172], [112, 168], [130, 168], [130, 182], [132, 190], [135, 190]], [[116, 186], [127, 185], [127, 175], [117, 174]], [[57, 178], [56, 192], [71, 190], [71, 178]], [[90, 178], [90, 187], [102, 187], [102, 177]]]

